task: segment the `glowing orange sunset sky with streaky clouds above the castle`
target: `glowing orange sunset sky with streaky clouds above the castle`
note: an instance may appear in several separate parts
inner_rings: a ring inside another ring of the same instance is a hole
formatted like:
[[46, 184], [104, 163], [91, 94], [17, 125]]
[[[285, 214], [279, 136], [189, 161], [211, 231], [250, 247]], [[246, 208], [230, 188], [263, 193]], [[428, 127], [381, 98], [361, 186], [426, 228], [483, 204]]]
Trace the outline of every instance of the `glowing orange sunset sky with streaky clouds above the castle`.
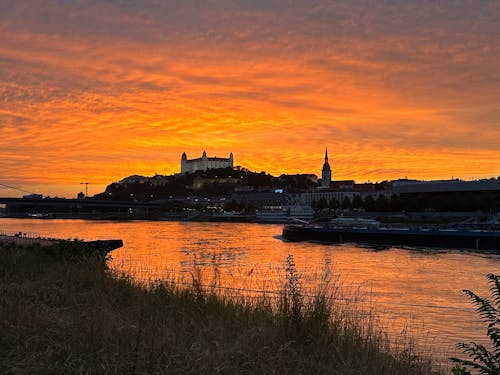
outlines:
[[[0, 2], [0, 183], [73, 197], [180, 156], [500, 175], [499, 1]], [[0, 186], [0, 196], [20, 192]]]

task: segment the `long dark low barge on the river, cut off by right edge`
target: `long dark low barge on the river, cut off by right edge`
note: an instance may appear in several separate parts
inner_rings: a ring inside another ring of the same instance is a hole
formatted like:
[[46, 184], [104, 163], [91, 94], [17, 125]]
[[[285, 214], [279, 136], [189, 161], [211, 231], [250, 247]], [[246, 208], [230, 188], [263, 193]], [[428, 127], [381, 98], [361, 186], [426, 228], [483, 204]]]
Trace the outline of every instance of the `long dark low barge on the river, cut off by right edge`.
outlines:
[[[345, 219], [345, 218], [344, 218]], [[288, 241], [327, 241], [381, 246], [416, 246], [500, 251], [499, 230], [465, 228], [393, 228], [375, 220], [340, 220], [323, 224], [289, 224], [283, 227]]]

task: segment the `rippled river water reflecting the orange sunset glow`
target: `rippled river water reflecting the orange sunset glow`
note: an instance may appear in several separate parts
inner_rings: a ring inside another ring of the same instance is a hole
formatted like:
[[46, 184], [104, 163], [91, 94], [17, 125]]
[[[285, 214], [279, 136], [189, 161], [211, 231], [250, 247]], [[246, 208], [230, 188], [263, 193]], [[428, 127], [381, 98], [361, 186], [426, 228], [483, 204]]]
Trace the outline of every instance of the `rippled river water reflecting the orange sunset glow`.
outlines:
[[486, 295], [485, 275], [500, 272], [500, 255], [290, 243], [281, 240], [281, 229], [246, 223], [0, 219], [5, 232], [121, 238], [124, 247], [112, 253], [110, 266], [141, 280], [190, 280], [196, 268], [211, 283], [216, 269], [221, 285], [277, 290], [292, 254], [306, 288], [314, 290], [325, 268], [333, 268], [344, 284], [361, 286], [363, 299], [390, 323], [391, 335], [409, 324], [418, 342], [434, 347], [438, 361], [453, 354], [459, 341], [484, 342], [484, 328], [460, 291]]

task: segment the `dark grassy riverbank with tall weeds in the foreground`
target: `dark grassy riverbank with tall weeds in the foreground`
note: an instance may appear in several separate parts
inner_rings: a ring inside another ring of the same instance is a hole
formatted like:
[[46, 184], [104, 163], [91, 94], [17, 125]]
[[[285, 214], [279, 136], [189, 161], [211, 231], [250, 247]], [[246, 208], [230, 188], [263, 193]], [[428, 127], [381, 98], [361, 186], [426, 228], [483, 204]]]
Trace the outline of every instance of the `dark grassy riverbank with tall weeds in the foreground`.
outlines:
[[0, 245], [0, 257], [2, 374], [432, 373], [326, 294], [304, 299], [293, 259], [273, 304], [199, 280], [138, 286], [97, 259], [41, 248]]

